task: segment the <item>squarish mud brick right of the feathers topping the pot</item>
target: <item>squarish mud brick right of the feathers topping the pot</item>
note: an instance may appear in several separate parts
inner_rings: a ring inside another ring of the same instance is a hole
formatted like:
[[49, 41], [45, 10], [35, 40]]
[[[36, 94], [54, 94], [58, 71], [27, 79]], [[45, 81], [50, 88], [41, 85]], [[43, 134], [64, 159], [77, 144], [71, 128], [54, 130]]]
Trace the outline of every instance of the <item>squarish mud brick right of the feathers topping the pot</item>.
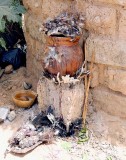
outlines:
[[86, 29], [97, 34], [115, 36], [116, 10], [90, 5], [86, 9]]

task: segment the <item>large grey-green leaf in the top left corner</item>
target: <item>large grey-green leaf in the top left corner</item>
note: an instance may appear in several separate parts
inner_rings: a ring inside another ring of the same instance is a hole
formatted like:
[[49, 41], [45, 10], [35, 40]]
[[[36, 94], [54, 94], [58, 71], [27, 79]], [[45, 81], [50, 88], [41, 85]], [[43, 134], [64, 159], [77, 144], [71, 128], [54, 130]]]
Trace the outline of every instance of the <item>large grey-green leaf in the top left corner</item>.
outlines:
[[8, 21], [21, 23], [21, 14], [25, 8], [19, 0], [0, 0], [0, 32], [5, 29], [5, 17]]

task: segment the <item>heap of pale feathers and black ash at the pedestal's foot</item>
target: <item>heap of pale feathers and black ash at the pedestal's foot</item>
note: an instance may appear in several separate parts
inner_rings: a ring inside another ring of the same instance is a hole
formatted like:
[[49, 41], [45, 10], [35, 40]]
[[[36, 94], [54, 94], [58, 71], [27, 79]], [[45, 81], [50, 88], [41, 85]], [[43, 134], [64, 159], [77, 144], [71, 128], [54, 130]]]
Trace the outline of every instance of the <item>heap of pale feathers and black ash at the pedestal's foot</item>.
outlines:
[[71, 136], [81, 127], [79, 119], [71, 123], [67, 131], [63, 119], [55, 117], [51, 106], [46, 112], [40, 112], [33, 119], [32, 116], [9, 140], [8, 151], [27, 153], [41, 143], [50, 143], [54, 136]]

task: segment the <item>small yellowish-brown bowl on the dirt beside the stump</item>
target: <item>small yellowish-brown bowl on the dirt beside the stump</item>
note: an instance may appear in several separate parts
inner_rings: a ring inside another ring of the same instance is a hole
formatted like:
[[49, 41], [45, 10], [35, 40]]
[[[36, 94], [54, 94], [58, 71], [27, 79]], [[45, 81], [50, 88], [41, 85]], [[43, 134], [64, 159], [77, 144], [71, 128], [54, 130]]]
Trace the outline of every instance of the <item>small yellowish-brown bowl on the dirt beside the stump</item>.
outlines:
[[30, 107], [37, 97], [37, 93], [33, 91], [17, 91], [13, 94], [12, 100], [18, 107], [27, 108]]

